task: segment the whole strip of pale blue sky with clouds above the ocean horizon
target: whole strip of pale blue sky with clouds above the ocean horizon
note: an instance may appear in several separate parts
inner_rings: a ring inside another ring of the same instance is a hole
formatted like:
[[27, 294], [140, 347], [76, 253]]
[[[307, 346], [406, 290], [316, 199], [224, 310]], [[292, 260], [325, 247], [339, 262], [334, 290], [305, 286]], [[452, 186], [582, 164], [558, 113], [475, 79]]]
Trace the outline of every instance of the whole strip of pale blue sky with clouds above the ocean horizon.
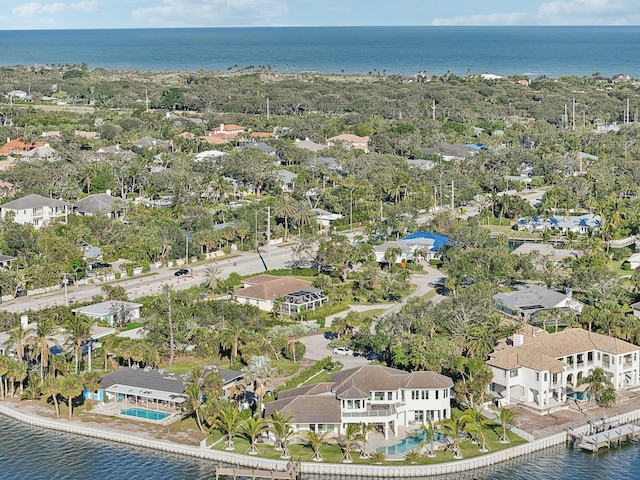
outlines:
[[639, 0], [2, 0], [3, 29], [640, 25]]

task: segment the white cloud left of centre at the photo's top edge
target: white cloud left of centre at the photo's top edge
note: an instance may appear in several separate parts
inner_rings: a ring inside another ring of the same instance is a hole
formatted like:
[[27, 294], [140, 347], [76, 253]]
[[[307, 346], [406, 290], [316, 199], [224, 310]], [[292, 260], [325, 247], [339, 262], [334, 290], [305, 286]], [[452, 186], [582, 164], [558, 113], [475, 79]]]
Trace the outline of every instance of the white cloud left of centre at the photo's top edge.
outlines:
[[131, 15], [139, 24], [208, 27], [269, 25], [286, 12], [285, 0], [162, 0]]

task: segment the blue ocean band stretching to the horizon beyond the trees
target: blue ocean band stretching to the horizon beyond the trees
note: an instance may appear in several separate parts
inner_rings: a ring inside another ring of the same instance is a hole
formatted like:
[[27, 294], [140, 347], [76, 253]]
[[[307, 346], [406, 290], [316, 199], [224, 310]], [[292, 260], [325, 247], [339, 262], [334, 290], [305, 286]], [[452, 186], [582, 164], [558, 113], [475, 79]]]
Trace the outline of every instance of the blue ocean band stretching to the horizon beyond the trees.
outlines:
[[640, 77], [640, 27], [281, 27], [0, 31], [0, 65], [91, 69]]

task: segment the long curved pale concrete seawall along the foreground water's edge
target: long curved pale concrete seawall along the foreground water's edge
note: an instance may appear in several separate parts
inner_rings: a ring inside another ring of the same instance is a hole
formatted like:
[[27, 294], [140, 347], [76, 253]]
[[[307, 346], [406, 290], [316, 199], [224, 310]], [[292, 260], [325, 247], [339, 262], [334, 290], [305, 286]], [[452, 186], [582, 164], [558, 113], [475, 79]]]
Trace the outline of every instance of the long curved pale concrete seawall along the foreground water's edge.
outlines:
[[[0, 414], [13, 418], [19, 422], [36, 427], [47, 428], [59, 432], [73, 433], [86, 437], [99, 438], [102, 440], [115, 441], [137, 447], [152, 448], [154, 450], [174, 453], [177, 455], [189, 455], [196, 458], [212, 460], [229, 465], [239, 465], [262, 470], [285, 470], [287, 461], [255, 458], [249, 455], [238, 453], [211, 450], [204, 445], [199, 446], [180, 445], [172, 442], [150, 440], [136, 437], [134, 435], [120, 434], [111, 430], [100, 428], [87, 428], [66, 420], [54, 420], [34, 415], [28, 415], [19, 410], [0, 403]], [[631, 423], [640, 419], [640, 410], [622, 413], [614, 417], [607, 418], [612, 423]], [[582, 425], [572, 429], [574, 433], [589, 433], [590, 425]], [[301, 464], [301, 473], [327, 476], [353, 476], [367, 478], [419, 478], [447, 473], [460, 473], [477, 468], [490, 467], [507, 460], [528, 455], [530, 453], [543, 450], [545, 448], [561, 445], [567, 441], [567, 433], [561, 432], [555, 435], [544, 437], [524, 445], [507, 448], [499, 452], [490, 453], [481, 457], [468, 460], [458, 460], [437, 465], [353, 465], [335, 463], [312, 463]]]

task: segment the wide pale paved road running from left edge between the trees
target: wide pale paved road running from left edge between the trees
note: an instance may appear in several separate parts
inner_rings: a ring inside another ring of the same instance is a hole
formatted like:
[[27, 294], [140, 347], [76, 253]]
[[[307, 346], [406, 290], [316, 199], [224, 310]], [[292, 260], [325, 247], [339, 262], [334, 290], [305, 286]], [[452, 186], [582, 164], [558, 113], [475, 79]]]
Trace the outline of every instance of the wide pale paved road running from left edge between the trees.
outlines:
[[[284, 268], [284, 264], [291, 260], [291, 248], [271, 247], [268, 253], [263, 250], [262, 256], [270, 269]], [[145, 295], [157, 295], [162, 291], [162, 286], [165, 284], [172, 285], [176, 290], [183, 290], [201, 284], [205, 280], [208, 265], [216, 265], [220, 269], [221, 279], [227, 278], [232, 272], [237, 272], [239, 275], [249, 275], [264, 271], [264, 265], [256, 252], [238, 252], [237, 255], [229, 259], [219, 259], [194, 265], [191, 267], [193, 276], [185, 275], [176, 277], [174, 273], [177, 268], [154, 268], [150, 274], [109, 282], [109, 284], [124, 287], [130, 299]], [[102, 296], [103, 285], [104, 284], [95, 284], [69, 287], [67, 289], [67, 297], [73, 299], [75, 302], [86, 302], [96, 295]], [[64, 304], [65, 292], [64, 290], [60, 290], [59, 292], [39, 295], [37, 297], [16, 298], [10, 302], [5, 302], [0, 306], [0, 309], [8, 312], [23, 312]]]

